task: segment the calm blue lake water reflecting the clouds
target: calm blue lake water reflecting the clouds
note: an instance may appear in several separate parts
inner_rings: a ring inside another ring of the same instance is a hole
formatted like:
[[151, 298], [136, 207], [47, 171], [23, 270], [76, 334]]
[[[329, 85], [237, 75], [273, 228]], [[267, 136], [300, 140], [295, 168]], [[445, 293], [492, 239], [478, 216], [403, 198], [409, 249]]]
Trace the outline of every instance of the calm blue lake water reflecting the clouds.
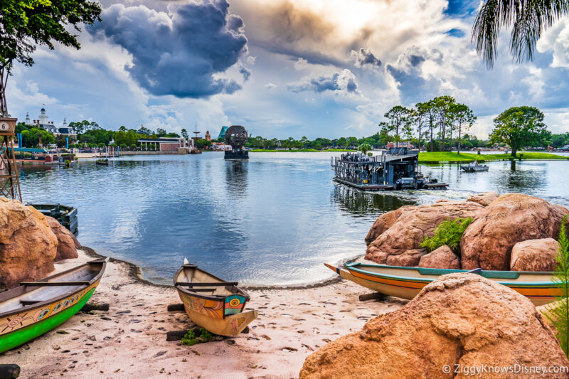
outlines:
[[[334, 154], [334, 153], [332, 153]], [[361, 255], [373, 221], [402, 205], [465, 199], [482, 191], [523, 192], [569, 206], [569, 161], [490, 163], [488, 173], [421, 166], [447, 191], [367, 194], [331, 181], [327, 153], [129, 156], [73, 169], [22, 172], [24, 201], [79, 209], [79, 240], [170, 283], [184, 257], [243, 284], [297, 284], [331, 277], [322, 262]]]

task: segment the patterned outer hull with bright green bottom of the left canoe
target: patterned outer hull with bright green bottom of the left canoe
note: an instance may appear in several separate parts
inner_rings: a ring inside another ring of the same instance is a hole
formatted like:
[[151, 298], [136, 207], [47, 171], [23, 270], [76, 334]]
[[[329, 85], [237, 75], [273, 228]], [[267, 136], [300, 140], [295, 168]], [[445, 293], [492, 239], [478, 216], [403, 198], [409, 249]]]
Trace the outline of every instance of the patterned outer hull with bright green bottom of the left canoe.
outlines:
[[63, 300], [0, 319], [0, 353], [31, 341], [70, 319], [89, 301], [99, 282], [97, 280]]

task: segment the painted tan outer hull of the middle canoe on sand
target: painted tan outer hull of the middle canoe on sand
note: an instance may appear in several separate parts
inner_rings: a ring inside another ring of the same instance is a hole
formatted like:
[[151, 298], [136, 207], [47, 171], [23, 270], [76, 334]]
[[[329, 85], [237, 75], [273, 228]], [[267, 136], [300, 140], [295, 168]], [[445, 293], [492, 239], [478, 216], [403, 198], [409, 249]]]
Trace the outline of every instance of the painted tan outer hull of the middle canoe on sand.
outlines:
[[257, 311], [247, 311], [223, 316], [223, 301], [193, 297], [180, 290], [178, 294], [191, 321], [219, 336], [237, 336], [258, 315]]

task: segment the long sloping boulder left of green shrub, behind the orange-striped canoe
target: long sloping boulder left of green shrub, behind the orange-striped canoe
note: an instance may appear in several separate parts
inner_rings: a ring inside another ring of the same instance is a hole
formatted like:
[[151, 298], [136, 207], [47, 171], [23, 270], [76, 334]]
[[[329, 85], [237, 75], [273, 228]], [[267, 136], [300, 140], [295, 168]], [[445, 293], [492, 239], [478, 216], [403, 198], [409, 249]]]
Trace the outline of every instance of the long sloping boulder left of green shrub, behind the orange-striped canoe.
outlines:
[[[450, 200], [440, 200], [420, 207], [403, 208], [406, 209], [400, 213], [390, 228], [383, 231], [368, 245], [366, 260], [385, 265], [390, 255], [420, 249], [425, 235], [432, 237], [435, 228], [442, 221], [474, 217], [484, 210], [484, 206], [479, 203]], [[380, 218], [383, 216], [385, 215]]]

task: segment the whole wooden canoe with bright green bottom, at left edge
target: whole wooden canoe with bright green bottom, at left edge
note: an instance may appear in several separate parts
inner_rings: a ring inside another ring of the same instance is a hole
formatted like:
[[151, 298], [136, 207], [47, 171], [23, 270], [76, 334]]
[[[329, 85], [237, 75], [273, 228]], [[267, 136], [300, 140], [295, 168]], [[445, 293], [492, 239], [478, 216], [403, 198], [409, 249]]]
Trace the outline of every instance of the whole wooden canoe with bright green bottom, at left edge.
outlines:
[[107, 260], [94, 260], [0, 294], [0, 353], [54, 329], [76, 314], [99, 284]]

